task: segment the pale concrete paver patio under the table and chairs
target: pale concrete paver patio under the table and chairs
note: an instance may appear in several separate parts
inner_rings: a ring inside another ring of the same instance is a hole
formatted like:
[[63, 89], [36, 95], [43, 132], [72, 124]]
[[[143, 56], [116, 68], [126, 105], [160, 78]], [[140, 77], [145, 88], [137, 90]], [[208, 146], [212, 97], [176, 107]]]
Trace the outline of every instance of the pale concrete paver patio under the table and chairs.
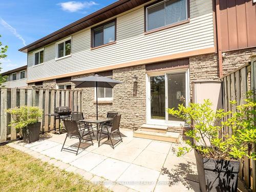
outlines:
[[[200, 191], [193, 153], [176, 157], [174, 143], [134, 138], [129, 130], [121, 133], [123, 142], [115, 149], [109, 141], [100, 147], [96, 140], [94, 145], [87, 141], [80, 145], [77, 156], [60, 151], [66, 134], [48, 134], [34, 143], [9, 145], [96, 184], [102, 182], [114, 191]], [[66, 147], [74, 148], [77, 143], [78, 139], [67, 139]]]

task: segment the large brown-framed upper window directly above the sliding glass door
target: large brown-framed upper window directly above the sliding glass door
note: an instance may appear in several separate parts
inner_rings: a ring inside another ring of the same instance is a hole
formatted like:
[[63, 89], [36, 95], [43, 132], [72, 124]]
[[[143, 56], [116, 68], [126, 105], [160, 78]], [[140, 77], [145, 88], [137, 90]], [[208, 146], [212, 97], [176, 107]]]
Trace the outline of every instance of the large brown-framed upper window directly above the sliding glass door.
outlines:
[[146, 31], [188, 19], [187, 0], [167, 0], [146, 7]]

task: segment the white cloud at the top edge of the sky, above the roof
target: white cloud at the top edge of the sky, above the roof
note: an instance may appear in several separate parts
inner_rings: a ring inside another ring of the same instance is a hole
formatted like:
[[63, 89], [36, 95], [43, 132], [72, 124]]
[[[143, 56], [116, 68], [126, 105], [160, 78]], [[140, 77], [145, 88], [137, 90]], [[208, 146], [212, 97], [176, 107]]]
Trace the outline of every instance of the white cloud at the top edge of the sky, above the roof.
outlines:
[[71, 2], [59, 3], [58, 5], [60, 5], [60, 7], [63, 11], [76, 12], [76, 11], [80, 11], [85, 8], [90, 8], [90, 7], [92, 7], [94, 5], [98, 5], [98, 4], [95, 2], [71, 1]]

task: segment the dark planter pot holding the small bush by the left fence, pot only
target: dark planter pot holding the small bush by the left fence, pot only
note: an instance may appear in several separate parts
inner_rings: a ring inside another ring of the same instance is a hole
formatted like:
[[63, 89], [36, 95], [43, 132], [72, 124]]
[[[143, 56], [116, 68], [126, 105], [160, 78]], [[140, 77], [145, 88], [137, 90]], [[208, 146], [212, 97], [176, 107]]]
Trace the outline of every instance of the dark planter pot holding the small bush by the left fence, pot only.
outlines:
[[28, 125], [27, 128], [22, 130], [23, 141], [31, 143], [39, 140], [41, 122]]

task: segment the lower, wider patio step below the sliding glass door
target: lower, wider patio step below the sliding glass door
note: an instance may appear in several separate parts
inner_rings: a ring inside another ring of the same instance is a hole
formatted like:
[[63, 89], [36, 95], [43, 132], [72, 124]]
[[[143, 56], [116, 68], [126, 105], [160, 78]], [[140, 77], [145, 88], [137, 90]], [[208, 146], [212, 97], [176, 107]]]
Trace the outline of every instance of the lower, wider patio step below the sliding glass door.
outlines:
[[144, 138], [144, 139], [153, 139], [153, 140], [158, 140], [158, 141], [178, 143], [180, 134], [174, 133], [174, 132], [155, 133], [155, 132], [137, 130], [137, 131], [133, 132], [133, 136], [139, 137], [139, 138]]

